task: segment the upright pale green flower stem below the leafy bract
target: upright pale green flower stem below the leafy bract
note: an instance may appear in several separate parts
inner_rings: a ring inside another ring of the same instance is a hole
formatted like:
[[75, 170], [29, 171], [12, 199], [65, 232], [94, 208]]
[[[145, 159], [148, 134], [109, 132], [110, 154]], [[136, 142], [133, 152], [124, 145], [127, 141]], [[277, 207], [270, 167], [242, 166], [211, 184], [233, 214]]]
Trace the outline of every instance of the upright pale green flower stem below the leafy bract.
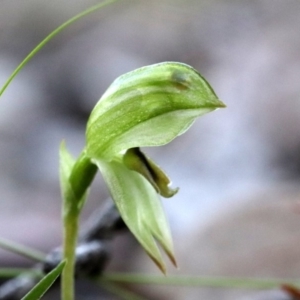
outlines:
[[75, 299], [75, 250], [78, 237], [79, 210], [72, 209], [64, 216], [63, 249], [66, 265], [61, 278], [62, 300]]

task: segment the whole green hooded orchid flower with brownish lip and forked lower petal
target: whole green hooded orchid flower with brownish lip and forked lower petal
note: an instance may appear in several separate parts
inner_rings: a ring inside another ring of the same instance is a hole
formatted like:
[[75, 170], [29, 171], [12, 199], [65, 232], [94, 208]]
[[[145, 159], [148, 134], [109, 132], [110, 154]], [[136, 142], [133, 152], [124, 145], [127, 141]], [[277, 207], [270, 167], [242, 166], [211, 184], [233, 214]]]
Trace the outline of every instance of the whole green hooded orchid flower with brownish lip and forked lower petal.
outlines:
[[224, 106], [195, 69], [166, 62], [120, 76], [88, 120], [84, 156], [97, 165], [124, 222], [163, 272], [157, 242], [176, 261], [160, 196], [178, 189], [139, 147], [165, 145], [197, 117]]

